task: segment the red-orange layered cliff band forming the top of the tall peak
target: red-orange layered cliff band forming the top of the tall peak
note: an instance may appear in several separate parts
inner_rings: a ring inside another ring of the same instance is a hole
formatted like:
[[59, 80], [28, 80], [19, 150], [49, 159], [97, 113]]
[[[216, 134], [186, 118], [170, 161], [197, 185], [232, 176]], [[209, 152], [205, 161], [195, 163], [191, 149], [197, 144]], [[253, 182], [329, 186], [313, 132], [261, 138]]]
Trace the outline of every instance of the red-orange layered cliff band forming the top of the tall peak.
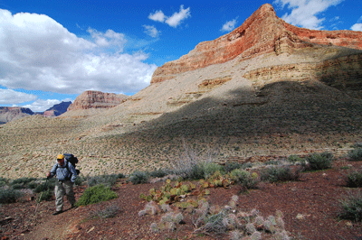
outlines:
[[311, 31], [292, 26], [277, 17], [271, 5], [262, 5], [240, 27], [214, 41], [201, 42], [179, 60], [155, 70], [151, 84], [175, 78], [177, 74], [274, 52], [279, 55], [312, 44], [333, 44], [362, 50], [362, 32]]

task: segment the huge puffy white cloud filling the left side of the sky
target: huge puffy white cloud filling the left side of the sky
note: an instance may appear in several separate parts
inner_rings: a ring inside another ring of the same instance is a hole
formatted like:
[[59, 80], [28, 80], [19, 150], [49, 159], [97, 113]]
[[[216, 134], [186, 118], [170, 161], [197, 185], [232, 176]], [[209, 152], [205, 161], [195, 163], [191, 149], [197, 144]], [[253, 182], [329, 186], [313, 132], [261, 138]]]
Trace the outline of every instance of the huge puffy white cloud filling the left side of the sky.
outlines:
[[157, 66], [144, 62], [148, 54], [123, 53], [122, 33], [88, 32], [90, 41], [46, 15], [0, 9], [0, 85], [63, 94], [138, 92], [149, 85]]

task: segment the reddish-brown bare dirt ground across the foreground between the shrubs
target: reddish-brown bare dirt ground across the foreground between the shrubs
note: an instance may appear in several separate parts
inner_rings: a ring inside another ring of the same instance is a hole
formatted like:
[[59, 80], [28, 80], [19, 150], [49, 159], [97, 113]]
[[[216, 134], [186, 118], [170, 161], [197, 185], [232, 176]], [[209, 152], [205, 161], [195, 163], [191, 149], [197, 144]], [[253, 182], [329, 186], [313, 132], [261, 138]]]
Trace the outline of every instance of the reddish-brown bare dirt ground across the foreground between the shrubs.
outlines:
[[[275, 215], [281, 210], [285, 229], [291, 239], [362, 239], [362, 224], [338, 219], [338, 200], [348, 196], [346, 174], [361, 169], [362, 162], [338, 160], [326, 171], [302, 172], [300, 180], [281, 183], [260, 182], [257, 189], [242, 192], [240, 186], [229, 189], [210, 189], [206, 199], [211, 205], [224, 207], [233, 195], [238, 195], [238, 211], [259, 210], [262, 217]], [[119, 198], [52, 216], [54, 201], [37, 204], [24, 200], [0, 208], [0, 239], [229, 239], [229, 235], [195, 233], [192, 216], [183, 212], [185, 224], [176, 225], [176, 231], [154, 233], [150, 229], [163, 214], [138, 216], [146, 201], [140, 193], [160, 188], [165, 182], [133, 185], [120, 180], [116, 187]], [[85, 187], [76, 187], [80, 198]], [[188, 198], [188, 197], [187, 197]], [[108, 206], [118, 206], [115, 217], [93, 217]], [[174, 206], [171, 206], [175, 208]], [[65, 209], [70, 208], [65, 200]], [[301, 216], [298, 217], [297, 216]], [[300, 219], [301, 218], [301, 219]], [[263, 239], [270, 237], [262, 235]], [[247, 238], [249, 239], [249, 238]]]

